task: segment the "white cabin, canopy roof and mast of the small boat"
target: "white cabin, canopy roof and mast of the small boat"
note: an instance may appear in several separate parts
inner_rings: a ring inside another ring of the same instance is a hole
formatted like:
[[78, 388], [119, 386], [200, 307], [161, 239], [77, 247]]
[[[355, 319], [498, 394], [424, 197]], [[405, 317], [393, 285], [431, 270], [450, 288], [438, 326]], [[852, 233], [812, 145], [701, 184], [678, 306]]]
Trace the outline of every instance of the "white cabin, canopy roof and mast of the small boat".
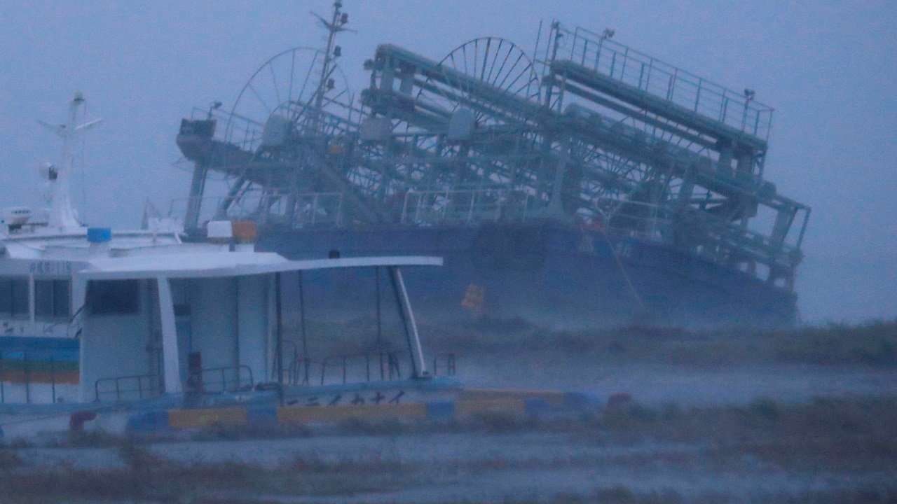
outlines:
[[[222, 376], [239, 381], [245, 369], [257, 381], [269, 379], [277, 366], [283, 370], [276, 359], [279, 274], [328, 268], [389, 269], [401, 292], [414, 374], [425, 374], [397, 267], [441, 265], [441, 258], [289, 261], [253, 251], [246, 236], [234, 238], [239, 233], [231, 222], [209, 226], [215, 243], [184, 243], [175, 231], [86, 229], [75, 220], [65, 185], [70, 134], [95, 124], [74, 126], [82, 102], [79, 93], [69, 125], [59, 128], [65, 167], [48, 169], [55, 184], [48, 222], [30, 222], [22, 207], [4, 212], [0, 402], [86, 403], [112, 392], [114, 400], [178, 395], [193, 352], [203, 368], [221, 369]], [[60, 357], [65, 352], [59, 348], [79, 354]]]

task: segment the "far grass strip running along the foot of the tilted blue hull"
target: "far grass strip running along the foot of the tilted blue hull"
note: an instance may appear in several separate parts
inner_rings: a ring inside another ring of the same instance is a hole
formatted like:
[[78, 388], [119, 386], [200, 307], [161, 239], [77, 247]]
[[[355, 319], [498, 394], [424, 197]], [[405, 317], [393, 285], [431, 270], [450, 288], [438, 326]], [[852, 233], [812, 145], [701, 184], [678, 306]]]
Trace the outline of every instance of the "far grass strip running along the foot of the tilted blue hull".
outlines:
[[689, 330], [630, 326], [553, 331], [520, 320], [422, 328], [432, 352], [463, 355], [545, 352], [579, 354], [597, 362], [678, 365], [897, 365], [897, 320], [860, 326], [757, 330]]

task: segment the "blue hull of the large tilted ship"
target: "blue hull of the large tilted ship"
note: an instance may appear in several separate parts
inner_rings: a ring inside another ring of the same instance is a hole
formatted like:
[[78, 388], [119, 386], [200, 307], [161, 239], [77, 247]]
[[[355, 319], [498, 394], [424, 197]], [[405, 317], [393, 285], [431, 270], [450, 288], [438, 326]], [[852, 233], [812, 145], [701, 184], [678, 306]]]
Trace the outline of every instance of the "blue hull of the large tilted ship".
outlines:
[[[556, 222], [267, 230], [258, 245], [291, 259], [333, 251], [442, 256], [441, 268], [404, 272], [424, 323], [484, 315], [568, 327], [787, 326], [797, 314], [792, 292], [750, 274], [662, 244]], [[374, 309], [373, 272], [306, 275], [309, 308], [346, 317]], [[470, 302], [472, 290], [483, 294], [482, 303]]]

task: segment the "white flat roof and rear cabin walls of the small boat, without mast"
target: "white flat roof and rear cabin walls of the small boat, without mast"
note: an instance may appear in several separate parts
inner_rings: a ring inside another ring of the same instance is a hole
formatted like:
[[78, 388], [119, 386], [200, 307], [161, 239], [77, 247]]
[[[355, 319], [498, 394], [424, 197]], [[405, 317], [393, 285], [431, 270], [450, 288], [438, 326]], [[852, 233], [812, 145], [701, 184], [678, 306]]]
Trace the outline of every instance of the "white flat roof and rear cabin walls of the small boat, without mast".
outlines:
[[[141, 388], [128, 398], [179, 394], [190, 352], [201, 353], [206, 369], [243, 367], [254, 377], [271, 377], [276, 274], [382, 266], [394, 269], [401, 286], [398, 266], [442, 264], [420, 256], [289, 261], [274, 253], [232, 252], [228, 245], [182, 243], [175, 233], [85, 234], [9, 237], [0, 257], [0, 284], [20, 284], [18, 295], [27, 295], [27, 302], [13, 302], [27, 305], [27, 312], [3, 322], [15, 327], [14, 337], [80, 340], [77, 397], [65, 388], [55, 397], [66, 402], [97, 399], [98, 380], [113, 378], [130, 378], [115, 387], [131, 393]], [[414, 315], [402, 298], [416, 369], [424, 372]], [[47, 395], [38, 390], [32, 393]]]

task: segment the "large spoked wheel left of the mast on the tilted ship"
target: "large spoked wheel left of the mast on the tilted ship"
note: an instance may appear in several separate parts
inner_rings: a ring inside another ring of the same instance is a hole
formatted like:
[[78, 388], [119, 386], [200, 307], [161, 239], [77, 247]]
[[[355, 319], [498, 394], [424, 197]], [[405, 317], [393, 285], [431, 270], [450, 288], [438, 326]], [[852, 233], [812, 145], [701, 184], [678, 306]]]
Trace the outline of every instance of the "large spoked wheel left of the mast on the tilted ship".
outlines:
[[239, 92], [223, 136], [252, 152], [252, 160], [221, 181], [228, 196], [218, 204], [219, 217], [264, 214], [275, 220], [292, 212], [284, 191], [299, 167], [326, 155], [350, 114], [352, 97], [333, 60], [320, 86], [324, 56], [314, 48], [287, 49], [261, 65]]

